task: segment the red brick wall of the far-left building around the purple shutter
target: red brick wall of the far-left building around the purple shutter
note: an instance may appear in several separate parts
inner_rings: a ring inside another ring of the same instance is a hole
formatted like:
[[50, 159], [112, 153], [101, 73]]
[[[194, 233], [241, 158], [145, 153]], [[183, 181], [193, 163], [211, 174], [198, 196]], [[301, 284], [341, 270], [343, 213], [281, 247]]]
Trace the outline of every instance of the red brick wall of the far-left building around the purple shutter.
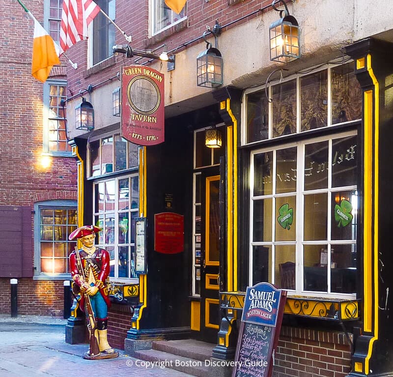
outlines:
[[[24, 0], [24, 3], [42, 22], [44, 1]], [[1, 1], [0, 24], [0, 205], [29, 206], [33, 210], [37, 201], [76, 199], [74, 158], [52, 157], [47, 169], [40, 164], [43, 84], [31, 76], [33, 21], [17, 1]], [[53, 70], [56, 79], [66, 79], [64, 67], [65, 63]], [[30, 232], [33, 245], [32, 214]], [[6, 245], [0, 245], [0, 257], [1, 247]], [[0, 313], [10, 313], [9, 285], [8, 278], [0, 279]], [[62, 316], [62, 281], [19, 279], [18, 311]]]

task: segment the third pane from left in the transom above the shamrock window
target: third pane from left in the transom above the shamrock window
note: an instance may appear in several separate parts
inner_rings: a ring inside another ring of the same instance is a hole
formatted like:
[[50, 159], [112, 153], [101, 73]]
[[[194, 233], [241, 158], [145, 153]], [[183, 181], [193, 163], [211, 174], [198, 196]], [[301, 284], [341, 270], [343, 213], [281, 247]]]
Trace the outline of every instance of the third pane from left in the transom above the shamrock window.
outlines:
[[328, 125], [327, 69], [300, 78], [301, 131]]

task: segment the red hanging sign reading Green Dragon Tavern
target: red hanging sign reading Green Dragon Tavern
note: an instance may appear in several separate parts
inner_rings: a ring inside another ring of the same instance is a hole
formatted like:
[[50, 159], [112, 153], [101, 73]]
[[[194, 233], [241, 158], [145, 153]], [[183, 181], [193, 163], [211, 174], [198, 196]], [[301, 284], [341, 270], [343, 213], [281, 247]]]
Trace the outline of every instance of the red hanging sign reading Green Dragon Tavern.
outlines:
[[143, 65], [123, 67], [121, 133], [138, 145], [164, 142], [164, 75]]

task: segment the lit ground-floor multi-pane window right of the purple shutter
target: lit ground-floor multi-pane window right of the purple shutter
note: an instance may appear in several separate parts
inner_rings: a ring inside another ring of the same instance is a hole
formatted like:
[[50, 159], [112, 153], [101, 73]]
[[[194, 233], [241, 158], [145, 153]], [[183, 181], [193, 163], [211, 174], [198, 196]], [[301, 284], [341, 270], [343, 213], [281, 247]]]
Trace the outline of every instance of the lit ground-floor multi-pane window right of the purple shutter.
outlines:
[[68, 236], [77, 228], [77, 209], [72, 206], [38, 206], [39, 274], [70, 273], [68, 257], [76, 246]]

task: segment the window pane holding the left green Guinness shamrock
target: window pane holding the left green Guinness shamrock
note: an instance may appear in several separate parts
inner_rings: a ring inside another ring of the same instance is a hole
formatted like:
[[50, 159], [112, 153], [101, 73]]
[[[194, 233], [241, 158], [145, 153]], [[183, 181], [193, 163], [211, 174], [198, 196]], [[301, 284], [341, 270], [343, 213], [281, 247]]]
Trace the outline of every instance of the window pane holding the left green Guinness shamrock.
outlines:
[[296, 240], [296, 197], [276, 199], [276, 241]]

